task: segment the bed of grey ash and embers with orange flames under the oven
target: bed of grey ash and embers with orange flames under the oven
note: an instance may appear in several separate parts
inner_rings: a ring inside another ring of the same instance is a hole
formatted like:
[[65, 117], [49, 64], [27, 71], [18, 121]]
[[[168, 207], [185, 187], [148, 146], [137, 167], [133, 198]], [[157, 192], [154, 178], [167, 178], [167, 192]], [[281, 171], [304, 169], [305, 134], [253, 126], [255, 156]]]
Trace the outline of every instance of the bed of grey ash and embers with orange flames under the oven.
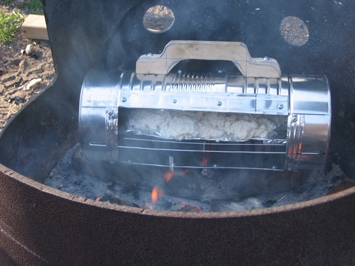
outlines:
[[86, 161], [77, 144], [53, 168], [45, 184], [108, 204], [189, 212], [247, 211], [294, 204], [355, 185], [335, 164], [329, 172], [209, 168], [173, 172], [161, 167], [137, 169], [97, 163]]

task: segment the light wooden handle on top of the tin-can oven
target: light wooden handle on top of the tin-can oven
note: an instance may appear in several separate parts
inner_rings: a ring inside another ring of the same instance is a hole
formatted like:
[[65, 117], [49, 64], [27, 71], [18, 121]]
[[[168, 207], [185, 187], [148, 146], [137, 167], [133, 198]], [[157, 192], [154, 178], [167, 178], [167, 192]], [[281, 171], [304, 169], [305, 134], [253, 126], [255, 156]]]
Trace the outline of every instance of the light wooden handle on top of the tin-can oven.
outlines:
[[171, 40], [158, 54], [141, 55], [137, 74], [168, 74], [181, 60], [229, 60], [244, 77], [281, 77], [280, 65], [272, 58], [253, 58], [244, 43]]

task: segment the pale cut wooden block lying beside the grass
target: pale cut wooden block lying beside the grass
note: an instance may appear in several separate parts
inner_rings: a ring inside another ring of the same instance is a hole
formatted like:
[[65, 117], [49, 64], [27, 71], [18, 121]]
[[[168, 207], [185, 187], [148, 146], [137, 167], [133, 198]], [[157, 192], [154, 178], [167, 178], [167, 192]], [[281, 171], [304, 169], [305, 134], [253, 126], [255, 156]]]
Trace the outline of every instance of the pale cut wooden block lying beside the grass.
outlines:
[[22, 23], [22, 31], [23, 35], [28, 39], [49, 40], [43, 15], [28, 15]]

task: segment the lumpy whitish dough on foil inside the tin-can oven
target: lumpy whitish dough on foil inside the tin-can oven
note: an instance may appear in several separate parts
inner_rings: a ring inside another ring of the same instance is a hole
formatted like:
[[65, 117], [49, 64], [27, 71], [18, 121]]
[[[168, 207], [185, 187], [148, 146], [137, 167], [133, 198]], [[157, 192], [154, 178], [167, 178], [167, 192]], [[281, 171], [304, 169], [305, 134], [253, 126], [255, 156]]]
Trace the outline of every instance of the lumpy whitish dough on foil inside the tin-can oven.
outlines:
[[276, 128], [286, 121], [287, 116], [136, 109], [131, 111], [129, 129], [175, 140], [245, 141], [276, 138]]

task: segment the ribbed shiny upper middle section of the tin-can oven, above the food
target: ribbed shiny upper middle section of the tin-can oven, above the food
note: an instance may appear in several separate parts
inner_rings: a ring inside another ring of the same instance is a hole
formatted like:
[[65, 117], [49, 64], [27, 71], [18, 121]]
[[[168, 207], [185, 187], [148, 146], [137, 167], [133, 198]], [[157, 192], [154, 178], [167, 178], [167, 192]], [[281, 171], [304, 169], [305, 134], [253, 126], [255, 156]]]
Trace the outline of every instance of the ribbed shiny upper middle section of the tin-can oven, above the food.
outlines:
[[288, 115], [288, 84], [274, 78], [123, 72], [119, 87], [119, 107]]

